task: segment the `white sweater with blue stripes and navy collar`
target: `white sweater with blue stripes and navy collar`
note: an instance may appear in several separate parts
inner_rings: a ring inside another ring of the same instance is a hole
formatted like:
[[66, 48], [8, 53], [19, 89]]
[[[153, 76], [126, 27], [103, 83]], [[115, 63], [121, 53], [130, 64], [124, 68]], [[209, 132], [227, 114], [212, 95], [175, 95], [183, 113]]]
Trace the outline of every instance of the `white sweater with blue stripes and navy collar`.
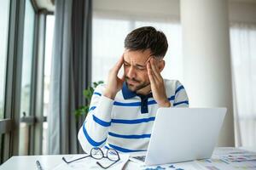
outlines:
[[[189, 107], [183, 85], [177, 80], [164, 81], [172, 107]], [[120, 152], [147, 150], [159, 108], [152, 94], [136, 94], [124, 83], [113, 100], [102, 95], [104, 89], [103, 84], [96, 87], [89, 113], [79, 129], [78, 138], [83, 150], [90, 153], [90, 149], [96, 146]]]

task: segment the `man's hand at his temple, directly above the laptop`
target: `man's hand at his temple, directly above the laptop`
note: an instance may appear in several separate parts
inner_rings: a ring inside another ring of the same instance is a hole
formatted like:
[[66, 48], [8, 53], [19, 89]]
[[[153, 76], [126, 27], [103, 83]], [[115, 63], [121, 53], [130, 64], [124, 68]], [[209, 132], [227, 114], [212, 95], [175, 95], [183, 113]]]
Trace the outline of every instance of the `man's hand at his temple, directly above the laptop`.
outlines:
[[147, 70], [154, 99], [160, 107], [170, 107], [171, 103], [166, 97], [164, 79], [161, 77], [159, 68], [156, 66], [156, 61], [153, 57], [147, 63]]

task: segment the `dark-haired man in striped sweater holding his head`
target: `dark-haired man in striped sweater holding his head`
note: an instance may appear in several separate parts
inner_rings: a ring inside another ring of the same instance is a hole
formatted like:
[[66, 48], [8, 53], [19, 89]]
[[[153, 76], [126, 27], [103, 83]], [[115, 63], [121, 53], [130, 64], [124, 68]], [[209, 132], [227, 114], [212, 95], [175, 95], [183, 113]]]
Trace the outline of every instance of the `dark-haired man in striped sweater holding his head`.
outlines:
[[[85, 152], [96, 146], [120, 152], [145, 151], [157, 109], [189, 106], [183, 85], [160, 75], [167, 48], [165, 34], [151, 26], [127, 35], [124, 54], [109, 71], [107, 84], [96, 88], [79, 130]], [[124, 76], [118, 77], [122, 65]]]

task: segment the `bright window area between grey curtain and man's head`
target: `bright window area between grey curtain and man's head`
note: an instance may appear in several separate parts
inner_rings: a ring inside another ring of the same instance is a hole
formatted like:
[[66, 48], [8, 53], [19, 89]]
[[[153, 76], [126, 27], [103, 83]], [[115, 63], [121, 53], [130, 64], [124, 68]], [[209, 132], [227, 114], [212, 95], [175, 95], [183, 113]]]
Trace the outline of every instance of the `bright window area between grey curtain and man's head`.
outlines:
[[[123, 53], [129, 20], [94, 19], [92, 34], [92, 81], [104, 80]], [[100, 48], [100, 49], [99, 49]], [[108, 63], [108, 65], [106, 65]]]

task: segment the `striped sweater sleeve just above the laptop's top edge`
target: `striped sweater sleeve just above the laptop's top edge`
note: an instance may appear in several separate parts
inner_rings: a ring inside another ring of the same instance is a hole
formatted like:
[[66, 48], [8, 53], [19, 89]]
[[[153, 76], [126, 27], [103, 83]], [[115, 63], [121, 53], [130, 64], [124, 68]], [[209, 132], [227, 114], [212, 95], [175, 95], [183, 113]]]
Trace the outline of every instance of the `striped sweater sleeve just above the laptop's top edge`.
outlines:
[[181, 82], [176, 82], [175, 99], [173, 107], [189, 107], [189, 98]]

